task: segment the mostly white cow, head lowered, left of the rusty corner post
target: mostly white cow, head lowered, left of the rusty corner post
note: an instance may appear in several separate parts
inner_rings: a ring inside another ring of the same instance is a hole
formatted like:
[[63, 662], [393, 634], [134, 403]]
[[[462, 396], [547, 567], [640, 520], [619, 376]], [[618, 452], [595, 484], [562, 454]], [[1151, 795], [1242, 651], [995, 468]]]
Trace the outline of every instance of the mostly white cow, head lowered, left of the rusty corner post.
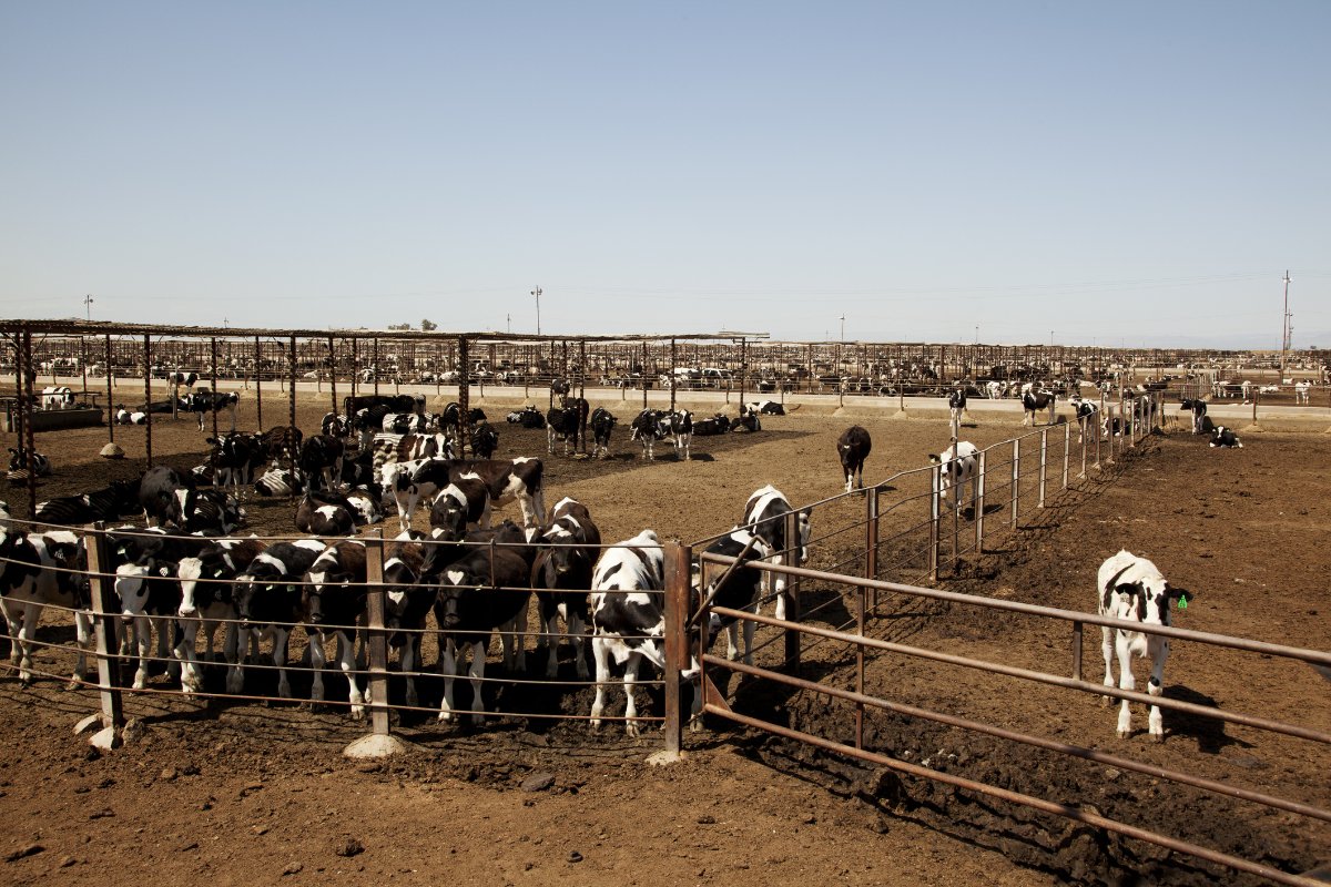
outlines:
[[[610, 686], [610, 660], [624, 668], [624, 730], [636, 737], [638, 705], [634, 688], [638, 668], [647, 660], [666, 668], [666, 553], [651, 529], [607, 548], [591, 580], [591, 653], [596, 664], [596, 698], [591, 726], [600, 727]], [[692, 669], [691, 669], [692, 670]]]

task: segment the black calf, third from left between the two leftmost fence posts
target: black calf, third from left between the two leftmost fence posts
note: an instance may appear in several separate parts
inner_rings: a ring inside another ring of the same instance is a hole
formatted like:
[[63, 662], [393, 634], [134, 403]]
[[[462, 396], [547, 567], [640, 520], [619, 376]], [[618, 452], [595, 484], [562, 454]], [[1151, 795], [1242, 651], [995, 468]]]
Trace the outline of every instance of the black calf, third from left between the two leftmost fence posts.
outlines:
[[[258, 553], [244, 572], [236, 576], [233, 598], [238, 622], [238, 649], [273, 640], [273, 665], [277, 668], [277, 694], [291, 697], [286, 678], [286, 645], [291, 626], [303, 620], [301, 586], [297, 582], [326, 545], [317, 539], [274, 543]], [[242, 688], [244, 672], [237, 664], [226, 676], [226, 686]], [[232, 690], [238, 693], [240, 690]]]

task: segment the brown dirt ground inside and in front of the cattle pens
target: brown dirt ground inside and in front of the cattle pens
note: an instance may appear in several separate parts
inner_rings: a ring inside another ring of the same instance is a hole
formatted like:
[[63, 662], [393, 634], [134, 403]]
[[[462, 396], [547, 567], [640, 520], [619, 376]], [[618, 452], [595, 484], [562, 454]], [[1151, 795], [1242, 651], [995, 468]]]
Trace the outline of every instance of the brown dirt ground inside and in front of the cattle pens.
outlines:
[[[634, 412], [611, 406], [622, 422]], [[323, 402], [302, 404], [299, 424], [306, 431], [317, 427], [322, 410]], [[265, 408], [266, 418], [276, 412]], [[246, 420], [242, 410], [242, 427], [249, 427]], [[757, 435], [697, 439], [689, 463], [676, 460], [669, 448], [644, 463], [623, 427], [615, 456], [606, 461], [547, 456], [543, 432], [512, 426], [499, 427], [498, 456], [543, 456], [547, 504], [564, 495], [586, 503], [606, 540], [651, 527], [663, 539], [692, 541], [728, 529], [747, 496], [765, 483], [795, 503], [840, 492], [835, 439], [852, 422], [873, 435], [868, 476], [874, 481], [918, 468], [928, 452], [948, 442], [941, 420], [796, 411], [769, 419]], [[965, 438], [982, 447], [1018, 431], [1014, 416], [968, 427]], [[1032, 512], [1017, 533], [993, 531], [985, 555], [968, 556], [941, 585], [1087, 610], [1099, 563], [1127, 548], [1197, 593], [1178, 625], [1326, 649], [1331, 477], [1322, 431], [1252, 432], [1236, 451], [1209, 449], [1186, 434], [1151, 438], [1141, 453]], [[43, 485], [41, 497], [142, 468], [133, 459], [142, 455], [141, 428], [117, 430], [130, 456], [124, 461], [96, 457], [105, 434], [91, 428], [43, 435], [39, 449], [53, 457], [57, 473]], [[154, 452], [189, 467], [204, 452], [202, 436], [186, 420], [162, 423], [154, 428]], [[25, 511], [21, 497], [21, 491], [9, 493], [16, 516]], [[291, 532], [289, 503], [250, 500], [246, 508], [257, 532]], [[815, 536], [849, 523], [858, 509], [849, 500], [817, 512], [823, 523]], [[840, 563], [848, 547], [840, 536], [821, 539], [811, 565]], [[803, 594], [827, 601], [840, 590], [807, 585]], [[1066, 625], [970, 608], [892, 597], [881, 601], [869, 633], [1055, 674], [1066, 674], [1070, 664]], [[1083, 645], [1091, 681], [1101, 672], [1098, 641], [1098, 632], [1089, 633]], [[55, 656], [45, 661], [60, 672]], [[844, 650], [809, 650], [804, 677], [852, 686], [853, 660]], [[1142, 672], [1138, 666], [1139, 686]], [[873, 658], [865, 685], [901, 703], [1322, 807], [1331, 803], [1331, 755], [1314, 742], [1166, 711], [1167, 739], [1155, 745], [1145, 737], [1139, 710], [1138, 731], [1119, 741], [1115, 710], [1093, 697], [901, 656]], [[158, 676], [153, 686], [169, 684]], [[1302, 664], [1183, 642], [1175, 642], [1165, 674], [1170, 698], [1319, 730], [1331, 729], [1328, 686]], [[740, 711], [839, 741], [852, 735], [851, 713], [821, 697], [756, 684], [728, 689], [737, 689]], [[423, 689], [422, 696], [429, 693]], [[438, 690], [433, 693], [437, 699]], [[536, 703], [584, 714], [588, 694], [582, 689]], [[530, 701], [518, 689], [502, 698], [514, 709]], [[659, 711], [658, 703], [648, 699], [648, 710]], [[129, 709], [141, 735], [102, 755], [72, 730], [96, 710], [95, 694], [63, 690], [56, 681], [21, 690], [13, 677], [0, 677], [5, 883], [1251, 882], [1149, 844], [720, 721], [685, 738], [680, 762], [651, 766], [647, 757], [659, 737], [628, 739], [615, 726], [594, 734], [576, 721], [504, 717], [473, 730], [405, 715], [398, 731], [413, 750], [382, 763], [358, 763], [342, 749], [365, 730], [335, 707], [310, 713], [224, 701], [190, 706], [156, 696], [132, 699]], [[865, 745], [1016, 791], [1089, 805], [1106, 817], [1286, 871], [1331, 862], [1326, 823], [1103, 765], [1070, 763], [885, 713], [866, 717]]]

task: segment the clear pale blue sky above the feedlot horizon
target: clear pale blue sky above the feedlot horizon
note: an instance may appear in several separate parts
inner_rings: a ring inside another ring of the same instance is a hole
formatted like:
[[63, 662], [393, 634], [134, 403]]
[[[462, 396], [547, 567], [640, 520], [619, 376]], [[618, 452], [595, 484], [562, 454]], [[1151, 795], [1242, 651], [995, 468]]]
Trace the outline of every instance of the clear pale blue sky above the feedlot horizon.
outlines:
[[[0, 0], [0, 317], [1331, 347], [1331, 3]], [[511, 317], [511, 319], [510, 319]]]

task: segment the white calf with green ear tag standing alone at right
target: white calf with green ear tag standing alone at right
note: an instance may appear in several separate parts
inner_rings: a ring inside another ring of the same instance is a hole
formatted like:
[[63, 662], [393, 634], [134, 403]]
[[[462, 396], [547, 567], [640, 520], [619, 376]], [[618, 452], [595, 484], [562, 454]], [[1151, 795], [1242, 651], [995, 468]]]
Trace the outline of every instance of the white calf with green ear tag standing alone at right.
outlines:
[[[1105, 560], [1095, 577], [1095, 604], [1101, 616], [1109, 616], [1142, 625], [1170, 625], [1170, 602], [1178, 601], [1186, 608], [1193, 593], [1170, 586], [1155, 564], [1127, 551]], [[1101, 626], [1105, 653], [1105, 686], [1114, 686], [1113, 661], [1118, 657], [1118, 689], [1135, 690], [1133, 680], [1133, 658], [1150, 657], [1151, 677], [1146, 684], [1150, 696], [1163, 692], [1161, 678], [1165, 674], [1165, 661], [1169, 658], [1169, 638], [1131, 629]], [[1103, 697], [1109, 703], [1109, 697]], [[1131, 734], [1131, 714], [1127, 699], [1118, 710], [1118, 738]], [[1150, 735], [1157, 742], [1165, 739], [1165, 722], [1159, 706], [1153, 705], [1147, 718]]]

